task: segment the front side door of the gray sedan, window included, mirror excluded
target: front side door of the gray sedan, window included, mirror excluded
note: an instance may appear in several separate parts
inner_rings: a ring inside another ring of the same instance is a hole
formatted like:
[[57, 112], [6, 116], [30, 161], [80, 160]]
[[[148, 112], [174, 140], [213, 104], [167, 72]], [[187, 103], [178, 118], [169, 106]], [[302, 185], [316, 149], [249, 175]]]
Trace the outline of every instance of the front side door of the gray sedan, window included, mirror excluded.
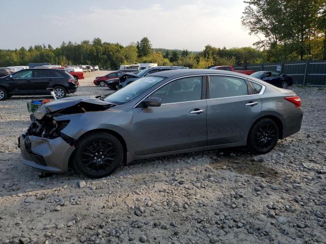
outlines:
[[133, 108], [135, 153], [148, 155], [207, 145], [202, 76], [181, 78], [160, 87], [150, 97], [161, 106]]

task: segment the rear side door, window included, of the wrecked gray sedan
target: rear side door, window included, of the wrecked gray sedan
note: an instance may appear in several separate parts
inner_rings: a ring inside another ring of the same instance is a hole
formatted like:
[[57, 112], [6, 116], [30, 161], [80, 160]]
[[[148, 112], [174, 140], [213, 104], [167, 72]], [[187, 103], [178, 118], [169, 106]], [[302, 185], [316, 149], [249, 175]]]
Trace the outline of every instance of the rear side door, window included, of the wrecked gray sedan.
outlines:
[[248, 131], [259, 116], [259, 95], [244, 79], [210, 75], [207, 89], [208, 145], [246, 140]]

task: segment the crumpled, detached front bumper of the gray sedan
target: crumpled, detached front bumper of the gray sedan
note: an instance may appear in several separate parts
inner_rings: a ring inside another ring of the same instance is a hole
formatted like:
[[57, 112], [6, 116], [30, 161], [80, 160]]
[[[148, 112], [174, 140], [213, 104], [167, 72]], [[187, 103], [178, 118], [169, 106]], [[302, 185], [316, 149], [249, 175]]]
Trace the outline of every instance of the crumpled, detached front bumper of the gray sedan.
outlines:
[[22, 163], [47, 172], [65, 173], [74, 147], [61, 137], [47, 139], [22, 134], [19, 139]]

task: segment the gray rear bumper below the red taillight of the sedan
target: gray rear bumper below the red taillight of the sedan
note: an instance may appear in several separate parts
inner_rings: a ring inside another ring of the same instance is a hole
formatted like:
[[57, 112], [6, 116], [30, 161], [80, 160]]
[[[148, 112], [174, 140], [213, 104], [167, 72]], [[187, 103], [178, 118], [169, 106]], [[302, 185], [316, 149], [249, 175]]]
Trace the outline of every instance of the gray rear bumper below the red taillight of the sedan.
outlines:
[[283, 138], [295, 134], [300, 131], [303, 118], [301, 108], [296, 108], [295, 112], [283, 118]]

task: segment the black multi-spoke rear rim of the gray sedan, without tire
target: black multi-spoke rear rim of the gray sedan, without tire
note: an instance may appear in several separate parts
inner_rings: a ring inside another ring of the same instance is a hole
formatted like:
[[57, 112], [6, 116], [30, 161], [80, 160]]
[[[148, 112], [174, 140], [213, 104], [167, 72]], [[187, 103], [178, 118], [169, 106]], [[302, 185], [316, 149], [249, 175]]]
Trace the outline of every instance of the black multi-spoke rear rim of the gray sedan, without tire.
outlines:
[[277, 140], [276, 128], [270, 124], [262, 125], [257, 129], [254, 140], [259, 149], [269, 149]]

